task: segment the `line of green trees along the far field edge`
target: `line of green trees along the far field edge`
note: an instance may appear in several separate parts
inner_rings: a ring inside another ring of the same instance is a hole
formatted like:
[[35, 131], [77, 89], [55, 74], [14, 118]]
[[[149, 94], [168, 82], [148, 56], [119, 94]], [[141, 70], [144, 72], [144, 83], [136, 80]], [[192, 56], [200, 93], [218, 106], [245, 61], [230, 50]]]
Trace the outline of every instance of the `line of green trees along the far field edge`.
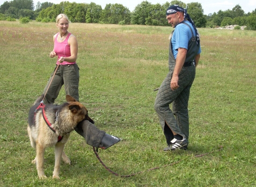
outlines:
[[10, 2], [5, 1], [0, 6], [0, 20], [16, 20], [25, 17], [30, 20], [49, 22], [55, 21], [58, 14], [64, 13], [68, 15], [71, 22], [167, 26], [165, 11], [173, 4], [185, 7], [196, 27], [215, 28], [239, 25], [256, 30], [256, 9], [245, 13], [238, 4], [232, 10], [220, 10], [217, 13], [204, 15], [201, 3], [186, 4], [177, 0], [162, 5], [143, 1], [132, 12], [118, 3], [106, 4], [105, 8], [102, 9], [101, 5], [93, 2], [90, 4], [67, 1], [60, 4], [38, 2], [34, 6], [33, 0], [12, 0]]

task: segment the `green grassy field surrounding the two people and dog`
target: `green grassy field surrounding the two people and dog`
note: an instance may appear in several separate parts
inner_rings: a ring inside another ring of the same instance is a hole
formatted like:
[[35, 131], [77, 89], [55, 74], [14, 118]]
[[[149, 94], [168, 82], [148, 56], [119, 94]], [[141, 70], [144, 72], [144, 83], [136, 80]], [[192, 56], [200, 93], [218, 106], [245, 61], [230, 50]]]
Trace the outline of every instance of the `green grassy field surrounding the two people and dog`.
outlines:
[[[70, 24], [78, 40], [80, 101], [96, 126], [121, 138], [99, 150], [73, 132], [52, 179], [54, 149], [45, 154], [46, 180], [31, 163], [27, 114], [55, 60], [54, 23], [0, 21], [0, 186], [256, 186], [256, 32], [201, 28], [202, 53], [189, 100], [188, 151], [163, 152], [165, 138], [153, 110], [168, 71], [171, 27]], [[56, 103], [65, 102], [64, 92]], [[195, 155], [218, 150], [204, 157]], [[179, 161], [172, 166], [174, 162]], [[147, 171], [150, 168], [159, 169]]]

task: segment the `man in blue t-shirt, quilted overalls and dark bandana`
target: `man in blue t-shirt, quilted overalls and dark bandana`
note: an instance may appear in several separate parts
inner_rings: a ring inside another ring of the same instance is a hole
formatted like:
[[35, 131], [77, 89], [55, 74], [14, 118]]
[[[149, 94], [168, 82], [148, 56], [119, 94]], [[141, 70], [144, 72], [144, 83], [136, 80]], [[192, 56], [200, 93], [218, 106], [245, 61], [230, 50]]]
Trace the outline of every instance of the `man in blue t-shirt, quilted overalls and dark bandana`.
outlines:
[[171, 33], [169, 73], [158, 90], [155, 110], [168, 145], [164, 151], [187, 150], [188, 98], [200, 58], [200, 40], [186, 9], [172, 5], [166, 10], [166, 19], [175, 29]]

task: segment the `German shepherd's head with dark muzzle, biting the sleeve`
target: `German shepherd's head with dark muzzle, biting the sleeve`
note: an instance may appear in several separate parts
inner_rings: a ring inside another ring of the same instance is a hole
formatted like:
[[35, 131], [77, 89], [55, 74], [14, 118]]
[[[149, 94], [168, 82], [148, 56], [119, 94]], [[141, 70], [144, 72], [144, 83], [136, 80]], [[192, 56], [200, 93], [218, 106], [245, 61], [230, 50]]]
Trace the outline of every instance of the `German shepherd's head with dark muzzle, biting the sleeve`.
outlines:
[[88, 120], [91, 123], [94, 121], [89, 117], [87, 108], [81, 103], [77, 102], [75, 98], [67, 95], [66, 100], [69, 103], [69, 110], [74, 116], [74, 120], [79, 123], [83, 120]]

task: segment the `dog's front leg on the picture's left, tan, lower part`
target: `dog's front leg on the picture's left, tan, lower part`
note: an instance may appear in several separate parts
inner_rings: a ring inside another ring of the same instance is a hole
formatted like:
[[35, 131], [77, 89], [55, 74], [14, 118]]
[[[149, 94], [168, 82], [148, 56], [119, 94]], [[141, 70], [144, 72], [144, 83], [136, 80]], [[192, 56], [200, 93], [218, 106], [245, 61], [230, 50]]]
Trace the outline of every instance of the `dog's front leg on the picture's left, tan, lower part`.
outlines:
[[43, 170], [43, 162], [45, 161], [45, 147], [37, 144], [36, 145], [36, 169], [38, 170], [39, 178], [47, 178]]

